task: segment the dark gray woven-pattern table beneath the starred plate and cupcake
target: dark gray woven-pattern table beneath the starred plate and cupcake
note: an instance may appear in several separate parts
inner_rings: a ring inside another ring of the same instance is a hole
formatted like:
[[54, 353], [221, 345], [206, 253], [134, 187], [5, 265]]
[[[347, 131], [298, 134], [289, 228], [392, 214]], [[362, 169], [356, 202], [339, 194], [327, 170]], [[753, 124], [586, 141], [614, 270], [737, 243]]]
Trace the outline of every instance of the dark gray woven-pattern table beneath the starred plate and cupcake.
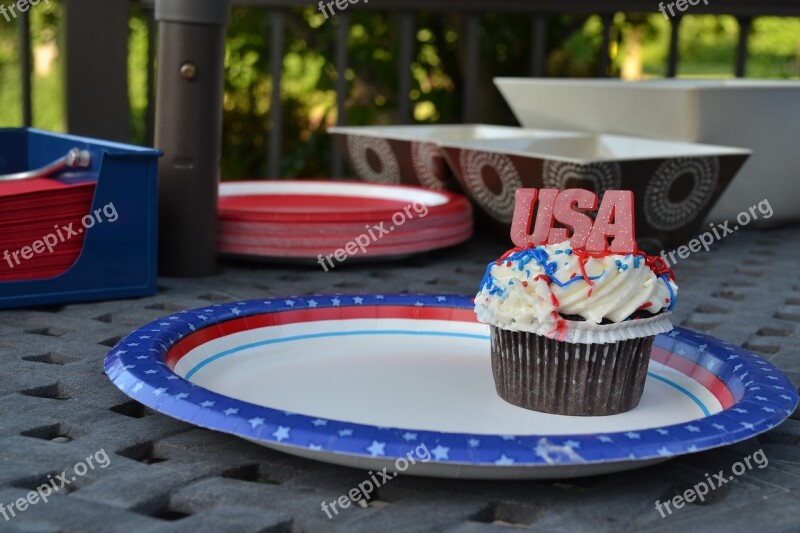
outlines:
[[[781, 245], [781, 243], [785, 243]], [[405, 261], [321, 268], [225, 264], [215, 277], [162, 279], [134, 301], [0, 312], [0, 503], [100, 449], [90, 470], [0, 531], [482, 531], [800, 528], [800, 416], [740, 445], [627, 473], [565, 482], [401, 476], [368, 508], [320, 509], [365, 473], [270, 451], [154, 414], [119, 392], [102, 361], [132, 329], [208, 302], [307, 293], [472, 293], [503, 246], [480, 236]], [[746, 346], [800, 383], [800, 233], [742, 232], [676, 267], [675, 322]], [[759, 448], [753, 469], [662, 518], [667, 500]]]

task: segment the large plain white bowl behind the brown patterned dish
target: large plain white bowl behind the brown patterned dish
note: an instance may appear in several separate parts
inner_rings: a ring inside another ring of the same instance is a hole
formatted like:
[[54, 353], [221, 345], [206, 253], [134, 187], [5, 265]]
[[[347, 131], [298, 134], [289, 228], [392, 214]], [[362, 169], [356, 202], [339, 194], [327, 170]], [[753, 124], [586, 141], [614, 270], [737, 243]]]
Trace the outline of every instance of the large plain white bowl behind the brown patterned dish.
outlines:
[[527, 128], [749, 148], [753, 157], [708, 218], [733, 221], [767, 199], [774, 216], [756, 224], [800, 220], [800, 82], [498, 78], [495, 84]]

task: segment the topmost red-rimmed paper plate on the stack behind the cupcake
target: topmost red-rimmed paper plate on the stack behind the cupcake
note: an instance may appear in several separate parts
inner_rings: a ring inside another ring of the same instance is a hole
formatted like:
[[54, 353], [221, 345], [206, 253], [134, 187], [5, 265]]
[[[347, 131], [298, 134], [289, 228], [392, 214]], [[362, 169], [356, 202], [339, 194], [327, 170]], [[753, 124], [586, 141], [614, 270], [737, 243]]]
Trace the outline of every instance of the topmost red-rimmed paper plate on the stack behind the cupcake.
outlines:
[[418, 218], [415, 203], [427, 207], [426, 216], [471, 209], [465, 197], [454, 193], [343, 181], [222, 183], [218, 205], [221, 220], [378, 223], [406, 209], [406, 218]]

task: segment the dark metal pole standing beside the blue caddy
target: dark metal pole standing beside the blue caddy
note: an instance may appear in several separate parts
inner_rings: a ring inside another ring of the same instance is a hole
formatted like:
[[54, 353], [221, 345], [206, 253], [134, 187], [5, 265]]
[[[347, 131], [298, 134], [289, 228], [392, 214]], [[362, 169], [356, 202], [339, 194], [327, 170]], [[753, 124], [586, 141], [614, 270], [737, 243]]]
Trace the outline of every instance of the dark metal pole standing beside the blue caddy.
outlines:
[[156, 0], [159, 273], [216, 272], [229, 0]]

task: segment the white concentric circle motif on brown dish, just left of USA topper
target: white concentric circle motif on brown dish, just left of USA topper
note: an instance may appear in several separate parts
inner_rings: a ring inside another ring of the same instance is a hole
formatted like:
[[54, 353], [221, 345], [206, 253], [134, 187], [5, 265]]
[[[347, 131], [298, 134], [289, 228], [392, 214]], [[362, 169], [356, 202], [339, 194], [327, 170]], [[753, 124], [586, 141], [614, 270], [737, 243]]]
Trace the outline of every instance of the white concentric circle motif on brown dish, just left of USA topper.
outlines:
[[[522, 179], [517, 168], [508, 156], [493, 152], [463, 150], [459, 164], [464, 177], [464, 185], [473, 199], [483, 207], [492, 218], [500, 222], [511, 222], [514, 218], [515, 194], [522, 187]], [[495, 193], [483, 179], [483, 170], [489, 167], [500, 177], [501, 189]]]

